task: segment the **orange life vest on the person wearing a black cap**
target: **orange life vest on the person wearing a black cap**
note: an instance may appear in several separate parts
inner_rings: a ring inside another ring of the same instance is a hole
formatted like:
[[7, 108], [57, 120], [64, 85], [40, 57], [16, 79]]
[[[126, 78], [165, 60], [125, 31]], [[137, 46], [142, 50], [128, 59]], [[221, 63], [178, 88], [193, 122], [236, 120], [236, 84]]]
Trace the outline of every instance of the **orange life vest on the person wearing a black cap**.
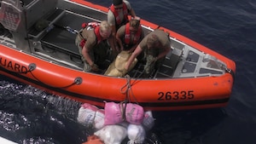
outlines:
[[126, 24], [129, 21], [128, 20], [128, 9], [127, 9], [127, 6], [126, 6], [125, 3], [123, 3], [123, 13], [124, 13], [124, 19], [123, 20], [120, 19], [118, 11], [114, 9], [113, 4], [110, 6], [109, 9], [112, 11], [112, 13], [115, 17], [115, 24], [116, 24], [115, 26], [117, 28], [119, 28], [119, 26], [121, 26], [123, 24]]

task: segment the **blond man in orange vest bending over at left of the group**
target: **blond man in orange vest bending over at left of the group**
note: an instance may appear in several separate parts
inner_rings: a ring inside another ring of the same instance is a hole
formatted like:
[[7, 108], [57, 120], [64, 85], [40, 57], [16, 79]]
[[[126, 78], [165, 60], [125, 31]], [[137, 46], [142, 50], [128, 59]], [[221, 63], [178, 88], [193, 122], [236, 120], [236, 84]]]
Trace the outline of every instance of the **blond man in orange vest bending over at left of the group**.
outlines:
[[[84, 24], [83, 24], [84, 25]], [[103, 20], [100, 24], [94, 22], [84, 26], [76, 37], [76, 45], [84, 61], [84, 72], [98, 72], [99, 65], [108, 56], [109, 41], [112, 42], [112, 28], [108, 21]]]

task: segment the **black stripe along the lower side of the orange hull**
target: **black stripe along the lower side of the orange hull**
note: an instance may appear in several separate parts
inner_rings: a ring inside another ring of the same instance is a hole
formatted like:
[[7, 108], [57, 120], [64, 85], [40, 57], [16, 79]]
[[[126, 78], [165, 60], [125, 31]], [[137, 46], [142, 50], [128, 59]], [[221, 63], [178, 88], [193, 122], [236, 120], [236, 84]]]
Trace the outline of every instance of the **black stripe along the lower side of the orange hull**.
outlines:
[[[46, 89], [49, 89], [51, 91], [55, 91], [55, 92], [59, 92], [61, 94], [64, 95], [70, 95], [73, 97], [77, 97], [80, 99], [84, 99], [84, 100], [89, 100], [89, 101], [97, 101], [97, 102], [103, 102], [103, 101], [110, 101], [110, 100], [106, 100], [106, 99], [99, 99], [99, 98], [95, 98], [92, 96], [88, 96], [88, 95], [79, 95], [73, 92], [69, 92], [65, 89], [60, 89], [60, 88], [55, 88], [55, 87], [51, 87], [47, 84], [43, 84], [40, 83], [36, 80], [33, 80], [31, 78], [26, 78], [22, 75], [20, 75], [17, 72], [10, 72], [6, 69], [4, 69], [3, 67], [0, 67], [0, 71], [3, 72], [7, 72], [17, 78], [22, 78], [25, 81], [32, 83], [32, 84], [37, 84], [39, 86], [42, 86]], [[224, 99], [218, 99], [218, 100], [207, 100], [207, 101], [182, 101], [182, 102], [140, 102], [139, 104], [142, 107], [183, 107], [183, 106], [200, 106], [200, 105], [211, 105], [211, 104], [221, 104], [221, 103], [226, 103], [229, 101], [229, 98], [224, 98]], [[119, 102], [119, 101], [113, 101], [113, 102]]]

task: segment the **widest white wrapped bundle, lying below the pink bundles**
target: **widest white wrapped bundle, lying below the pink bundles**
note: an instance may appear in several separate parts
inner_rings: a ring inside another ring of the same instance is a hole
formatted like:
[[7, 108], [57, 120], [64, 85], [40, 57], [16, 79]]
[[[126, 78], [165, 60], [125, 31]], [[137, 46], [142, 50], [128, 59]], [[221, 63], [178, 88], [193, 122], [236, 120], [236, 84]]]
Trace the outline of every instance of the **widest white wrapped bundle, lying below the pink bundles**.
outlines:
[[127, 130], [120, 125], [106, 125], [94, 133], [105, 144], [120, 144], [127, 136]]

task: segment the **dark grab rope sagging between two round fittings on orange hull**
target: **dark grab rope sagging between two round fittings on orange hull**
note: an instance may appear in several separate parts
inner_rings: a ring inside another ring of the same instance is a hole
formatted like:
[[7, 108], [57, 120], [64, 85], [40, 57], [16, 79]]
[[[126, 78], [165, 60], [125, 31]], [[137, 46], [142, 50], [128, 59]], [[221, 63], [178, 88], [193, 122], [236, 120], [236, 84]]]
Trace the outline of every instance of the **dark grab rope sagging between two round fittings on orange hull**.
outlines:
[[[30, 72], [32, 77], [37, 79], [38, 82], [44, 84], [44, 82], [42, 82], [39, 78], [37, 78], [32, 72], [37, 68], [37, 65], [34, 64], [34, 63], [31, 63], [28, 65], [28, 70], [26, 72], [19, 72], [19, 73], [27, 73], [27, 72]], [[83, 78], [80, 78], [80, 77], [77, 77], [77, 78], [74, 78], [74, 81], [72, 84], [68, 84], [67, 86], [63, 86], [63, 87], [54, 87], [54, 86], [51, 86], [53, 88], [59, 88], [59, 89], [66, 89], [68, 87], [71, 87], [73, 85], [79, 85], [79, 84], [82, 84], [83, 82]], [[45, 85], [48, 85], [48, 84], [45, 84]]]

